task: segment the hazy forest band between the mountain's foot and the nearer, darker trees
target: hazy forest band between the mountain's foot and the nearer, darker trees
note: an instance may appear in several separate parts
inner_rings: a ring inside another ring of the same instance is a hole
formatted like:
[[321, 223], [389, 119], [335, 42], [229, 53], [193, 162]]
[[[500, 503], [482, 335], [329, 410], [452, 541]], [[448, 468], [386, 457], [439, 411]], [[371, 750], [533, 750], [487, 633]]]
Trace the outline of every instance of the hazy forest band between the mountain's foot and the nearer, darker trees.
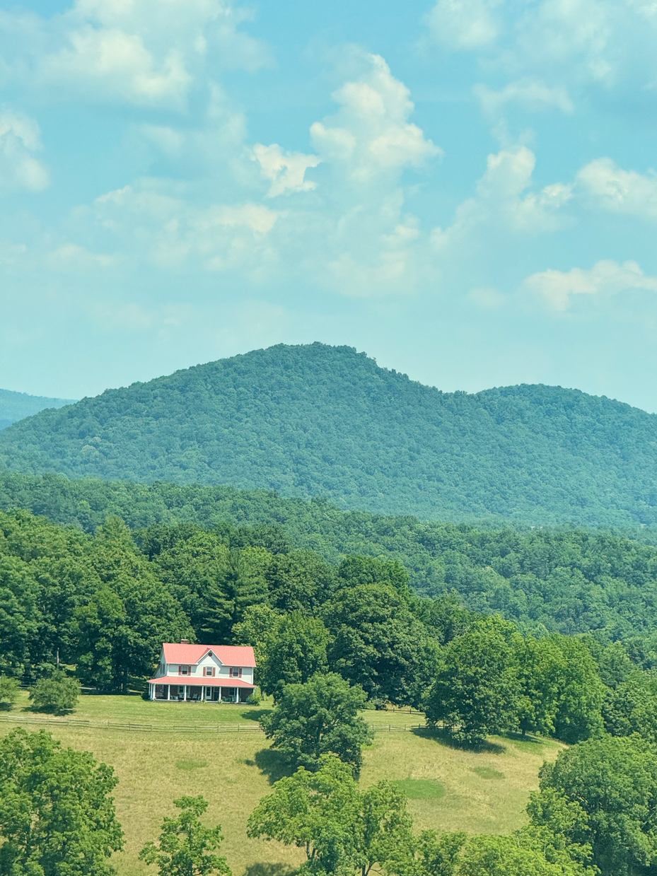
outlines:
[[657, 630], [657, 548], [622, 533], [484, 529], [342, 512], [323, 500], [265, 491], [53, 475], [4, 474], [0, 508], [27, 508], [86, 533], [117, 515], [136, 533], [178, 524], [230, 526], [250, 538], [263, 532], [280, 551], [312, 550], [333, 565], [356, 554], [396, 560], [416, 593], [454, 592], [472, 611], [498, 611], [532, 632], [596, 632], [613, 640]]

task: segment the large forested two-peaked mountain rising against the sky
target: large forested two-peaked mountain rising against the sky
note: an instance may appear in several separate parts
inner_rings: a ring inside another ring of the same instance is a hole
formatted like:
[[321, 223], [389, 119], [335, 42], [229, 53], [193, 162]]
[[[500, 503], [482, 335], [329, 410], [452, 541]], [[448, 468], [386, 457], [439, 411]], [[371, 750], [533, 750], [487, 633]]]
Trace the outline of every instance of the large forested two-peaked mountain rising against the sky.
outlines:
[[350, 347], [280, 344], [0, 433], [0, 466], [325, 496], [533, 525], [657, 522], [657, 416], [558, 386], [440, 392]]

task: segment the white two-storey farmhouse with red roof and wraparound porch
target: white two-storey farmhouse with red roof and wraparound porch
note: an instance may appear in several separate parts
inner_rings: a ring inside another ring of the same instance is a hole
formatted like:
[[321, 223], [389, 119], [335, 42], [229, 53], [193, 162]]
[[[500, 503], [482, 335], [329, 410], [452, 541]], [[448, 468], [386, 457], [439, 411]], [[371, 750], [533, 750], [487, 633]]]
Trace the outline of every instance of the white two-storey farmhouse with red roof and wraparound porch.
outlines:
[[165, 642], [158, 671], [148, 682], [152, 700], [244, 703], [253, 693], [253, 648]]

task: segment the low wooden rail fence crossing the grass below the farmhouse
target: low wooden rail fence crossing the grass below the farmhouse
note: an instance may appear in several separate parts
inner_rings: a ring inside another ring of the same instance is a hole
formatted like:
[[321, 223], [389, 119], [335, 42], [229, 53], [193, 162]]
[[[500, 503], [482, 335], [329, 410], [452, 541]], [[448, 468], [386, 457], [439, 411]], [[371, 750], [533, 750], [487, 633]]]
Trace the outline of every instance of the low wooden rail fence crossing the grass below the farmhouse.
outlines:
[[[117, 730], [138, 733], [262, 733], [259, 724], [138, 724], [118, 721], [95, 721], [77, 717], [52, 717], [50, 715], [0, 715], [0, 723], [40, 724], [50, 727], [88, 727], [96, 730]], [[425, 724], [369, 724], [375, 733], [419, 730]]]

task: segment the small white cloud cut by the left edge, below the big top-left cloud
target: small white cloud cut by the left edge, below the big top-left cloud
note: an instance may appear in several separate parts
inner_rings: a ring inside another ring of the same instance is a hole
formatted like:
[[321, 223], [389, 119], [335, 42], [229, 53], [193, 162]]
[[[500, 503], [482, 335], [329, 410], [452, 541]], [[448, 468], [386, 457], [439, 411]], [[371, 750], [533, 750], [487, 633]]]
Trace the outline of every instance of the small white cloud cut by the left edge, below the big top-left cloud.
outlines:
[[48, 172], [33, 155], [40, 148], [36, 122], [11, 109], [0, 113], [0, 189], [40, 192], [48, 187]]

